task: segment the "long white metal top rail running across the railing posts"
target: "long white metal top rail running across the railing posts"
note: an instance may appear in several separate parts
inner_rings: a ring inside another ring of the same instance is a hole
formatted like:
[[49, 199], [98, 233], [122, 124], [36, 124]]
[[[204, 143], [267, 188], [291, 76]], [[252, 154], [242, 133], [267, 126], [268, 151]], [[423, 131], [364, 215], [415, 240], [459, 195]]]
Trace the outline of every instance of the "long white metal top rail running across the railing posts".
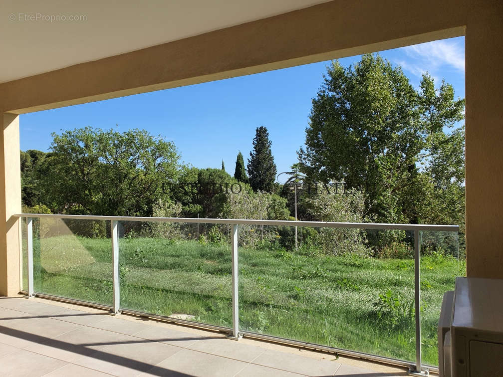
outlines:
[[204, 219], [182, 217], [134, 217], [134, 216], [93, 216], [93, 215], [52, 215], [52, 214], [16, 214], [16, 217], [56, 218], [74, 220], [111, 220], [145, 221], [157, 223], [200, 223], [200, 224], [242, 224], [269, 226], [301, 226], [314, 228], [354, 228], [375, 230], [421, 230], [438, 232], [459, 232], [458, 225], [431, 224], [380, 224], [380, 223], [338, 223], [328, 221], [291, 221], [291, 220], [251, 220], [251, 219]]

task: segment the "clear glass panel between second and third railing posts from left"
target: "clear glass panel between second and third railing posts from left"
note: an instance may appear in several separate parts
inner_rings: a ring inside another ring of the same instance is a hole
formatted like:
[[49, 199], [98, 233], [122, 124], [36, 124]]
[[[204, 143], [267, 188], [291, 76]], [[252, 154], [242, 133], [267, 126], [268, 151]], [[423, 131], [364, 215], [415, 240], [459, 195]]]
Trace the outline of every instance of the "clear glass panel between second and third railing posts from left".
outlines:
[[230, 242], [211, 242], [207, 228], [120, 221], [120, 307], [231, 327]]

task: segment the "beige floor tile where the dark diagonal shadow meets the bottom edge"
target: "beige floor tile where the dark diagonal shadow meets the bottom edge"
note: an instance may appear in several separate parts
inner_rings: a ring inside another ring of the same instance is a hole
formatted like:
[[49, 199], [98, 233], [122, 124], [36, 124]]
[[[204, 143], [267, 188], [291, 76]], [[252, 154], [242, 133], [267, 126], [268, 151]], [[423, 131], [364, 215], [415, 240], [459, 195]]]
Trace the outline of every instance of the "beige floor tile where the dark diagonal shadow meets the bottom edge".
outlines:
[[[182, 349], [150, 369], [146, 375], [166, 376], [204, 376], [224, 377], [234, 376], [247, 364], [242, 361], [228, 359], [203, 352]], [[183, 374], [182, 374], [183, 373]]]

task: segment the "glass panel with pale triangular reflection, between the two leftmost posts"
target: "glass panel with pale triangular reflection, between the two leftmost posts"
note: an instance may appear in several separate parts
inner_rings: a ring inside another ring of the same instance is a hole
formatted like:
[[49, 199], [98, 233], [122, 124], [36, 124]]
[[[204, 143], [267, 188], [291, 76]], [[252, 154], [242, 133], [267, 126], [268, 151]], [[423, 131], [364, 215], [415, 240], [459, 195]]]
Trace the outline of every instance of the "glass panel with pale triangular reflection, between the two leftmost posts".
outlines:
[[110, 221], [33, 219], [36, 293], [111, 305]]

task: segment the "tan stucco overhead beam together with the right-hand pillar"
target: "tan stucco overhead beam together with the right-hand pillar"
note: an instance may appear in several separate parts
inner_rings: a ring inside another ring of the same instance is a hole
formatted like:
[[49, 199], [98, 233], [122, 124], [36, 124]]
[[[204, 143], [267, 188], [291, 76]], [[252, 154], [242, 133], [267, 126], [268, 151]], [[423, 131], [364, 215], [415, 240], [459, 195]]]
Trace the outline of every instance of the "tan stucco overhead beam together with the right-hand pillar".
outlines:
[[[0, 84], [0, 112], [22, 114], [466, 33], [468, 274], [503, 278], [502, 3], [336, 0]], [[8, 165], [14, 175], [19, 161]], [[19, 187], [7, 195], [3, 202], [19, 201]], [[17, 244], [6, 245], [2, 234], [5, 253]]]

